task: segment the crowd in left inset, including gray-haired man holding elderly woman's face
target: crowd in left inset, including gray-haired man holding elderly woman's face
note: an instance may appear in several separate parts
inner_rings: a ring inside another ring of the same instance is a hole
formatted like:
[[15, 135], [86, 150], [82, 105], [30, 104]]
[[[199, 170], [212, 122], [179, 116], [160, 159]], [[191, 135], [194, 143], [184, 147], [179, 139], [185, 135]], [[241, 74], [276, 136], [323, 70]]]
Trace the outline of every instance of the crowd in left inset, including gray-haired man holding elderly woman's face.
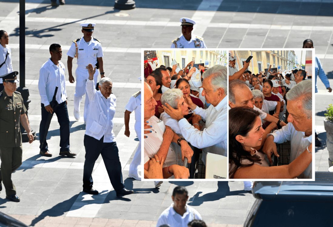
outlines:
[[[188, 178], [184, 159], [197, 166], [200, 153], [204, 165], [208, 153], [226, 157], [227, 68], [195, 68], [190, 62], [176, 73], [175, 66], [161, 65], [145, 80], [144, 163], [149, 171], [155, 155], [164, 158], [158, 178]], [[194, 73], [201, 74], [200, 81]]]

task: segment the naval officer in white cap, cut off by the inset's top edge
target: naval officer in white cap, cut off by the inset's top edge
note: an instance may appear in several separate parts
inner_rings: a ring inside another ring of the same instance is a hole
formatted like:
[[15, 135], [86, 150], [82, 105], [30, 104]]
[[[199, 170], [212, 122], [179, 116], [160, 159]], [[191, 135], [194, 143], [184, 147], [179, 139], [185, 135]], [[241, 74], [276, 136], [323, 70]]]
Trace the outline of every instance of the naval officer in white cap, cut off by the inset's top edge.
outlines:
[[203, 38], [192, 35], [195, 21], [190, 18], [180, 18], [182, 35], [172, 40], [170, 48], [207, 48]]

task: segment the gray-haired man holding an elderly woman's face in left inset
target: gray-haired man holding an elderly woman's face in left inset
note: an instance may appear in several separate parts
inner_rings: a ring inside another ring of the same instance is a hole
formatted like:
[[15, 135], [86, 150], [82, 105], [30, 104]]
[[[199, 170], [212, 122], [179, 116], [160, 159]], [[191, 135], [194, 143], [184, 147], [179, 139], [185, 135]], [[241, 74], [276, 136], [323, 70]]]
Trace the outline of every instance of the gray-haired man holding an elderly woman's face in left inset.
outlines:
[[202, 148], [202, 162], [206, 164], [207, 153], [227, 156], [227, 68], [215, 65], [203, 73], [202, 95], [211, 105], [202, 109], [195, 105], [189, 96], [186, 102], [190, 109], [206, 122], [203, 131], [195, 129], [183, 117], [181, 108], [174, 109], [167, 103], [164, 110], [178, 121], [184, 139], [196, 148]]

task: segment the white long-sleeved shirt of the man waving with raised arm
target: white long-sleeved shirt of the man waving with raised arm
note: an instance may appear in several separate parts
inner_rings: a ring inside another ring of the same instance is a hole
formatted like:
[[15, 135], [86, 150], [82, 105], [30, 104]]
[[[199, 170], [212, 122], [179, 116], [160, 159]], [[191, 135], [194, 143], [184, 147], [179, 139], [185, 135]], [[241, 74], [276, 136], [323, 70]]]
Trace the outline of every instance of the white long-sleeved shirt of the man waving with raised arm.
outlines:
[[104, 143], [116, 141], [113, 133], [113, 118], [116, 112], [116, 96], [111, 94], [105, 98], [96, 90], [94, 80], [87, 80], [86, 91], [90, 101], [85, 134]]

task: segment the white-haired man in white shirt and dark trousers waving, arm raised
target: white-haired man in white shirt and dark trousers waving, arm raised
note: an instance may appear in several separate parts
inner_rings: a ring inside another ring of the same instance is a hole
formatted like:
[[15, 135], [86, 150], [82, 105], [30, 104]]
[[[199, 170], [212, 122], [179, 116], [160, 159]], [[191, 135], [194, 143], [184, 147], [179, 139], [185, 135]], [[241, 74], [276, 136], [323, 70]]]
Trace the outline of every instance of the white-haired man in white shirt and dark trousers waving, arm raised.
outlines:
[[132, 194], [134, 191], [127, 190], [123, 183], [119, 151], [113, 133], [116, 96], [112, 94], [112, 81], [108, 77], [103, 77], [99, 82], [99, 90], [97, 91], [93, 80], [96, 67], [94, 68], [92, 64], [89, 64], [88, 71], [89, 78], [86, 91], [90, 105], [83, 141], [86, 150], [83, 168], [83, 191], [88, 194], [98, 194], [98, 191], [93, 188], [91, 175], [95, 162], [101, 154], [117, 197]]

